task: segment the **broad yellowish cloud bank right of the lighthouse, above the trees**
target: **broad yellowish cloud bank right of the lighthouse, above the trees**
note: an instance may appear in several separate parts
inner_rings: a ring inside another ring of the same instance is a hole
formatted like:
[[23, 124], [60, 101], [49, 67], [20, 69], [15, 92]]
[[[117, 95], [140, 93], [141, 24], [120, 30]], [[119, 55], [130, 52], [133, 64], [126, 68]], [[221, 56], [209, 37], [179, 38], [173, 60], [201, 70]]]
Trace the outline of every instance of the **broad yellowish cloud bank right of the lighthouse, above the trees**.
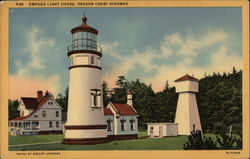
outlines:
[[[201, 38], [194, 38], [192, 34], [184, 37], [179, 33], [173, 33], [164, 37], [158, 49], [150, 48], [144, 52], [134, 51], [126, 56], [119, 54], [119, 49], [115, 48], [116, 51], [109, 55], [119, 60], [111, 64], [112, 68], [105, 72], [104, 80], [110, 87], [115, 87], [118, 76], [125, 75], [126, 77], [131, 71], [134, 71], [136, 66], [140, 66], [144, 72], [156, 72], [154, 75], [143, 75], [139, 78], [147, 84], [151, 83], [155, 91], [160, 91], [164, 88], [166, 80], [173, 86], [173, 81], [186, 73], [194, 75], [196, 78], [202, 78], [205, 73], [230, 72], [233, 66], [242, 69], [242, 58], [227, 49], [228, 36], [223, 30], [209, 31]], [[106, 45], [112, 46], [114, 43]], [[115, 42], [115, 46], [118, 47], [119, 43]], [[213, 48], [215, 51], [209, 52], [209, 54], [201, 51], [201, 49], [208, 50], [209, 48]], [[204, 54], [208, 56], [203, 59], [207, 64], [194, 65], [194, 62], [198, 60], [196, 57]], [[154, 62], [157, 59], [175, 60], [176, 62], [159, 64]]]

